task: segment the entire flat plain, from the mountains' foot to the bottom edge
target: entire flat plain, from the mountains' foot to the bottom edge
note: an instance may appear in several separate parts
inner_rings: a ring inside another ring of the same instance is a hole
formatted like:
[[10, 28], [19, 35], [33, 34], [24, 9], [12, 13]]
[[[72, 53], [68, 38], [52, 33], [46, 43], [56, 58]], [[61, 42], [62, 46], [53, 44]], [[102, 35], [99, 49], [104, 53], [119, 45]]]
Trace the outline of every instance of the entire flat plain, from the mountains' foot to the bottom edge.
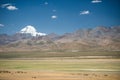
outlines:
[[120, 80], [119, 52], [89, 53], [0, 53], [0, 80]]

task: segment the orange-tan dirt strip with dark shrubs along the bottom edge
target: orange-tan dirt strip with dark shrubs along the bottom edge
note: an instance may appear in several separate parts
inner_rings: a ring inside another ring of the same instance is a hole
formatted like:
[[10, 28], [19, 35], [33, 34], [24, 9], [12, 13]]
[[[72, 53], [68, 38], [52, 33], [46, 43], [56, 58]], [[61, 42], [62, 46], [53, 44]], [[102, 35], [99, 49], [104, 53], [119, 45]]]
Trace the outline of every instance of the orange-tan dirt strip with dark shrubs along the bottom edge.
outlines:
[[0, 80], [120, 80], [120, 72], [0, 71]]

